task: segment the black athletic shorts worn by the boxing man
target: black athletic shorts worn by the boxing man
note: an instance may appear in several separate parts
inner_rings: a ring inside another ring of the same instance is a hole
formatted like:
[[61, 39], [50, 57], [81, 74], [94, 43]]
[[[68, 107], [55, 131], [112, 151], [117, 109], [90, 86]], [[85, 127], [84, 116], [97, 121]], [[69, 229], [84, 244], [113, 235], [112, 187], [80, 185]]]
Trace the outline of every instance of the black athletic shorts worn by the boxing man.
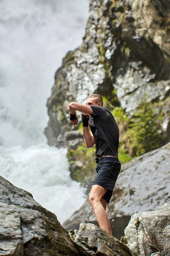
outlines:
[[121, 169], [121, 164], [117, 157], [103, 157], [99, 159], [96, 166], [97, 175], [94, 179], [93, 185], [99, 185], [108, 189], [103, 196], [103, 199], [109, 203], [113, 189]]

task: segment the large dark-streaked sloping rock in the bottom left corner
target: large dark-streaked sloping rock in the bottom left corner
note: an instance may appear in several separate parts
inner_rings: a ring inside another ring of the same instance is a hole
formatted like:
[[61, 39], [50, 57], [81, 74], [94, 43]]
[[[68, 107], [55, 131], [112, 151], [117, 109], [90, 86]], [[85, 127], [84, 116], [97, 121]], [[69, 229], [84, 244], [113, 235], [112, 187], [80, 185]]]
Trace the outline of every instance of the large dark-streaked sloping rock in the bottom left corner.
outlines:
[[56, 215], [1, 176], [0, 255], [78, 256]]

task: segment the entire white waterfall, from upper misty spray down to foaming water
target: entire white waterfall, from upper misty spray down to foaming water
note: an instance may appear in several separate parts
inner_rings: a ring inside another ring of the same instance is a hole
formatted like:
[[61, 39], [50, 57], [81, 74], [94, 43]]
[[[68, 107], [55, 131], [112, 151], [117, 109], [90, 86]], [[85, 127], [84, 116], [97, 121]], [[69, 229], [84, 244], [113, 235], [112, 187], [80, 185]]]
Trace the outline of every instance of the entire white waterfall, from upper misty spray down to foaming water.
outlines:
[[88, 0], [0, 0], [0, 13], [0, 175], [62, 222], [83, 189], [65, 149], [46, 145], [45, 104], [62, 58], [81, 44]]

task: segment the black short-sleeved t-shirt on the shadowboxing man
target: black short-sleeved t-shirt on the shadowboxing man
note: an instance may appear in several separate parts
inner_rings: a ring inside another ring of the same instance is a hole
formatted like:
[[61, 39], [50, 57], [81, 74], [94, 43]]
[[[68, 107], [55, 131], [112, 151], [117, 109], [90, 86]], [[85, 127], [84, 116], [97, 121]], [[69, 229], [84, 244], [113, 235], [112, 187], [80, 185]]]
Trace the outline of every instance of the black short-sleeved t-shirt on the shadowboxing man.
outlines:
[[118, 157], [119, 128], [107, 108], [91, 105], [94, 114], [90, 115], [89, 126], [96, 140], [96, 163], [101, 155]]

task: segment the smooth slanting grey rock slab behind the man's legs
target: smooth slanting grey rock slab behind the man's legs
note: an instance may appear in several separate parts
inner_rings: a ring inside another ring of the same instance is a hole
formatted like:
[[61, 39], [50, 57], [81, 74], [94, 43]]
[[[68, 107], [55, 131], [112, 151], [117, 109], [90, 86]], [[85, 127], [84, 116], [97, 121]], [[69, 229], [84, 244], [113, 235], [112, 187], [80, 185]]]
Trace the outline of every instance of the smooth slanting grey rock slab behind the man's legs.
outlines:
[[[123, 231], [121, 221], [115, 217], [131, 216], [136, 212], [152, 211], [170, 200], [170, 143], [162, 148], [136, 157], [122, 166], [113, 196], [107, 206], [108, 218]], [[70, 228], [81, 222], [96, 221], [88, 199], [65, 223]], [[116, 236], [116, 235], [115, 235]]]

